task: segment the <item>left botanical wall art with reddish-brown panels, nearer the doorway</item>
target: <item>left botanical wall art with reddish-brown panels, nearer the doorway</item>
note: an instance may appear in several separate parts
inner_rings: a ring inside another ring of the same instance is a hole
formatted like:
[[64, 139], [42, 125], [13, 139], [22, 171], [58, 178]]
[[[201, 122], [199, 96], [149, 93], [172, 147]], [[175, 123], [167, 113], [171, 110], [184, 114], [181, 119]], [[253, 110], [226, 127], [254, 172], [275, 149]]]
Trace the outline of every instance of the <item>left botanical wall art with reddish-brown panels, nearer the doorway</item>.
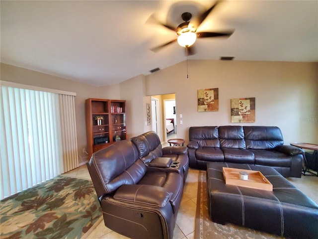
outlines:
[[219, 111], [219, 88], [198, 90], [198, 112]]

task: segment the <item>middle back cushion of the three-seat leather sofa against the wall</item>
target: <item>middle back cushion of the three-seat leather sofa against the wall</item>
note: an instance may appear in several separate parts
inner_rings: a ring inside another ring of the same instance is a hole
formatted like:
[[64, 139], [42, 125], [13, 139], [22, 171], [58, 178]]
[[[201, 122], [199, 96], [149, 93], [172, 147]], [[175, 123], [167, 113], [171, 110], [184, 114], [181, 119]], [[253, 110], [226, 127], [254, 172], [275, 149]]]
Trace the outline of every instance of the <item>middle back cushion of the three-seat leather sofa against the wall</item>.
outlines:
[[221, 148], [246, 148], [242, 126], [219, 126], [219, 136]]

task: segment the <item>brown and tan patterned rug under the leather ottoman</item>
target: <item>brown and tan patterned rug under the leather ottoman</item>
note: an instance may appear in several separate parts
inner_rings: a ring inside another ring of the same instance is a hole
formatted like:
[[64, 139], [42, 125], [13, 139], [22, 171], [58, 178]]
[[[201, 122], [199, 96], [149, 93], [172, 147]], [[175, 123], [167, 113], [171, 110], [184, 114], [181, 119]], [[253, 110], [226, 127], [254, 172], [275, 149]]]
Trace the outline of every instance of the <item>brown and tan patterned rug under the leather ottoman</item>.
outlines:
[[221, 225], [212, 222], [208, 211], [206, 172], [199, 172], [197, 209], [195, 218], [195, 239], [283, 239], [233, 224]]

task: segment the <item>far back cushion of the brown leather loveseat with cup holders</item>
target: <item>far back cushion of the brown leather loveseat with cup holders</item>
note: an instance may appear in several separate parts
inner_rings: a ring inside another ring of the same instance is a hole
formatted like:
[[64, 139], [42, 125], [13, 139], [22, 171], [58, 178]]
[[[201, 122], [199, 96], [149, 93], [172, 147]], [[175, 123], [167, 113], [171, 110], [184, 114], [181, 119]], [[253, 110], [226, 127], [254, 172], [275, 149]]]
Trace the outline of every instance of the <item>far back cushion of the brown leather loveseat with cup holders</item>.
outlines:
[[136, 145], [139, 157], [147, 164], [154, 158], [162, 156], [162, 145], [155, 131], [149, 131], [133, 137], [131, 141]]

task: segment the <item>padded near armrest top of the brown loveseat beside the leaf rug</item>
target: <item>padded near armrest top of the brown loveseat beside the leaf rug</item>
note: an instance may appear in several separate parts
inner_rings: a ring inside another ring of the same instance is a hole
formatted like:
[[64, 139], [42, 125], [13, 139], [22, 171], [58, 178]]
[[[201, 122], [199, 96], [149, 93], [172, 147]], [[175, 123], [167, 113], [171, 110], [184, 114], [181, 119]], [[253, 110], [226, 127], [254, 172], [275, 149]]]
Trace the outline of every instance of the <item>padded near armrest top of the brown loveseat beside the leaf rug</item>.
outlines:
[[135, 204], [164, 207], [172, 193], [153, 185], [122, 185], [114, 194], [114, 199]]

